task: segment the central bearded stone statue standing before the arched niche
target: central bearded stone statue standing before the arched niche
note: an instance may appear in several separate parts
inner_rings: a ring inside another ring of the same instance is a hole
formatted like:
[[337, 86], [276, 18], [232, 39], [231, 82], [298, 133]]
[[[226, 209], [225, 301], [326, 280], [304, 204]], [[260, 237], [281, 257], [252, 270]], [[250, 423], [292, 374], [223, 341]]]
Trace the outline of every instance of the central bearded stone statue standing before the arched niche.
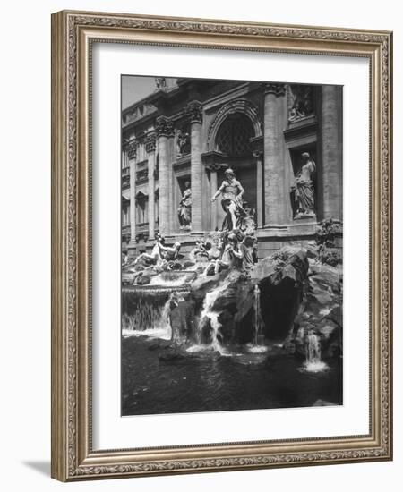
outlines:
[[240, 228], [243, 218], [246, 216], [242, 205], [242, 196], [244, 188], [241, 183], [236, 181], [234, 171], [227, 169], [225, 171], [225, 179], [222, 182], [219, 190], [216, 191], [211, 201], [216, 201], [221, 195], [221, 205], [226, 212], [226, 218], [222, 224], [222, 231], [234, 231]]

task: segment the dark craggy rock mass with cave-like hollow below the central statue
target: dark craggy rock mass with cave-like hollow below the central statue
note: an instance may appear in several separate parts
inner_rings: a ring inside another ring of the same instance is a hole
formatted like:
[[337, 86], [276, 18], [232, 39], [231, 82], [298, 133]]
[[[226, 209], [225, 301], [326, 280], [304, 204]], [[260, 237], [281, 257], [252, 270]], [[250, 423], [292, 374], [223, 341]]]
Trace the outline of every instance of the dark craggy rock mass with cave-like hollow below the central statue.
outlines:
[[[292, 329], [294, 315], [303, 298], [307, 282], [309, 263], [306, 251], [297, 247], [286, 247], [278, 254], [262, 259], [247, 273], [233, 269], [216, 276], [201, 276], [192, 287], [196, 310], [201, 311], [207, 293], [218, 289], [219, 295], [213, 301], [211, 310], [219, 312], [220, 333], [224, 343], [248, 343], [255, 337], [255, 285], [260, 286], [261, 309], [258, 312], [259, 324], [267, 338], [286, 338]], [[272, 316], [273, 296], [280, 308]], [[285, 308], [285, 309], [284, 309]], [[267, 314], [266, 316], [266, 313]], [[268, 319], [271, 319], [268, 321]], [[274, 322], [279, 332], [266, 331]], [[274, 336], [273, 336], [274, 335]]]

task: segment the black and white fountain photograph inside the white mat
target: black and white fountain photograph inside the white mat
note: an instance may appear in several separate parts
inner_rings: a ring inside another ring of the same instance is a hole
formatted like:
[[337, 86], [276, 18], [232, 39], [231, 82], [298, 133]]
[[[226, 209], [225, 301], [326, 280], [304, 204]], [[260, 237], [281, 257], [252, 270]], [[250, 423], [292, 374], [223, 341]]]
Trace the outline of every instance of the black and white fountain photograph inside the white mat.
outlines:
[[343, 87], [121, 77], [123, 416], [343, 404]]

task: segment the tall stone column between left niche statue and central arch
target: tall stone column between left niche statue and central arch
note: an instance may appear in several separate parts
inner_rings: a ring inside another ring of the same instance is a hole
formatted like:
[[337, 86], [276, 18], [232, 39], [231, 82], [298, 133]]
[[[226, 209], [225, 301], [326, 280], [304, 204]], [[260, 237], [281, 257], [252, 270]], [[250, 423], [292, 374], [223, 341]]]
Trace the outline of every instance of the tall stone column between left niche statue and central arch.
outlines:
[[189, 103], [186, 113], [191, 123], [191, 186], [192, 186], [192, 232], [202, 230], [201, 216], [201, 121], [202, 107], [198, 101]]

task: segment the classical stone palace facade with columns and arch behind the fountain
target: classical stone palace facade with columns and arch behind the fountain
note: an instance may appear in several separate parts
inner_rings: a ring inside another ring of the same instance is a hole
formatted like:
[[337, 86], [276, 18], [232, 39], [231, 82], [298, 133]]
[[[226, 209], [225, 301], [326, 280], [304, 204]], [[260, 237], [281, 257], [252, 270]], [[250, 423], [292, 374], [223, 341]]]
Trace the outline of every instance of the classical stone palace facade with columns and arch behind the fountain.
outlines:
[[[342, 220], [339, 86], [177, 79], [124, 109], [122, 125], [122, 244], [131, 257], [150, 250], [156, 233], [186, 250], [220, 229], [225, 214], [210, 199], [227, 167], [255, 211], [261, 258], [312, 240], [323, 218]], [[177, 209], [186, 182], [184, 231]]]

